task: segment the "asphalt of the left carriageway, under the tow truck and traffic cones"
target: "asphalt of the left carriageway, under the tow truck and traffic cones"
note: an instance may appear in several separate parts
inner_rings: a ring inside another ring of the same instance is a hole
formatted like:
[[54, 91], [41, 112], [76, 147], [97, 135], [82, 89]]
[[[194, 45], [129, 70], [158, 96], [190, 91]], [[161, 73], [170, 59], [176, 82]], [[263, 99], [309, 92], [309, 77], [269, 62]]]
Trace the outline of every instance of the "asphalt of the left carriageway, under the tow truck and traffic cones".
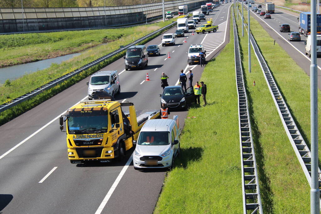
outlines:
[[[204, 40], [205, 50], [209, 50], [206, 60], [217, 54], [229, 40], [231, 4], [222, 4], [209, 16], [219, 25], [216, 33], [192, 36], [190, 30], [185, 37], [187, 43], [183, 42], [184, 38], [177, 38], [175, 46], [160, 45], [161, 55], [149, 57], [144, 70], [125, 71], [122, 58], [102, 69], [119, 73], [121, 94], [116, 99], [133, 102], [137, 112], [157, 110], [158, 95], [162, 92], [161, 72], [169, 76], [169, 85], [175, 85], [181, 69], [185, 72], [193, 69], [195, 84], [204, 68], [187, 66], [188, 46]], [[176, 27], [168, 32], [175, 30]], [[160, 38], [146, 45], [159, 45]], [[151, 81], [144, 81], [147, 72]], [[89, 77], [0, 127], [0, 212], [152, 213], [154, 210], [166, 170], [134, 170], [132, 162], [127, 161], [133, 149], [127, 151], [122, 162], [76, 165], [68, 160], [66, 136], [59, 130], [58, 117], [86, 99], [86, 81]], [[175, 114], [183, 127], [187, 112], [173, 112], [170, 117]]]

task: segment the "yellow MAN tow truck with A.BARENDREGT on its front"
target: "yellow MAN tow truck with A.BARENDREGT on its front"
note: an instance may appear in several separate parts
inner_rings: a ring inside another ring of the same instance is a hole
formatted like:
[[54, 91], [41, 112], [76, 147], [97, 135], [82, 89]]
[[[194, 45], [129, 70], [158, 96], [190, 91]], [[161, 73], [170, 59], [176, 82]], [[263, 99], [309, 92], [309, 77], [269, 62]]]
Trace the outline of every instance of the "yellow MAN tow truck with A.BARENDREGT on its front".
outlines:
[[[129, 112], [123, 111], [125, 106]], [[81, 101], [59, 118], [61, 131], [66, 121], [68, 159], [71, 163], [122, 160], [144, 123], [159, 116], [159, 111], [150, 111], [136, 117], [134, 103], [110, 99]]]

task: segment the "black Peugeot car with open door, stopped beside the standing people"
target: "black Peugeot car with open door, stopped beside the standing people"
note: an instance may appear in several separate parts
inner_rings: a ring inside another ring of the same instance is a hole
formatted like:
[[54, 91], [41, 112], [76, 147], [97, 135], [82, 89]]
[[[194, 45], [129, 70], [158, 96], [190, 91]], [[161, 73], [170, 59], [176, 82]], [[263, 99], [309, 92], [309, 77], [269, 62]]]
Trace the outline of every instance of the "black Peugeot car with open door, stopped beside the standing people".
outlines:
[[187, 88], [184, 93], [181, 86], [167, 86], [159, 96], [160, 105], [165, 103], [169, 109], [188, 109], [188, 105], [195, 102], [193, 87]]

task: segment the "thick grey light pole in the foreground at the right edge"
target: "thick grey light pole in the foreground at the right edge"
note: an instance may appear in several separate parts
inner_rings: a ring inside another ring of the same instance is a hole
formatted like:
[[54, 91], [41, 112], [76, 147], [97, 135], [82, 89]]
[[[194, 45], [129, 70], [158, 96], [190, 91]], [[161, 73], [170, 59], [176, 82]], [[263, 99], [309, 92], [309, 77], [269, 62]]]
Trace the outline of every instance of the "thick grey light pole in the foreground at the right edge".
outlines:
[[317, 0], [311, 0], [311, 65], [310, 65], [310, 110], [311, 110], [311, 190], [312, 214], [320, 213], [318, 182], [318, 97], [317, 97]]

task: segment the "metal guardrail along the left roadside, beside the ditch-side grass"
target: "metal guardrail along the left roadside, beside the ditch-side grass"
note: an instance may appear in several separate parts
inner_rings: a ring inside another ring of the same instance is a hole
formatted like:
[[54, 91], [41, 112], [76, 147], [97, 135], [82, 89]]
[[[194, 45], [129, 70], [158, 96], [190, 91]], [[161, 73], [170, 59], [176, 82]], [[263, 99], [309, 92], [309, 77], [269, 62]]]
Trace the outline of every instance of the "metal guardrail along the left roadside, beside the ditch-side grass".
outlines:
[[146, 36], [141, 37], [141, 38], [137, 39], [136, 41], [134, 41], [134, 42], [122, 47], [122, 48], [119, 48], [118, 50], [115, 50], [115, 51], [113, 51], [113, 52], [111, 52], [111, 53], [109, 53], [109, 54], [107, 54], [105, 56], [102, 56], [99, 59], [94, 60], [94, 61], [92, 61], [92, 62], [90, 62], [90, 63], [88, 63], [88, 64], [86, 64], [86, 65], [84, 65], [84, 66], [82, 66], [82, 67], [80, 67], [80, 68], [78, 68], [76, 70], [74, 70], [74, 71], [71, 71], [70, 73], [65, 74], [62, 77], [56, 78], [55, 80], [52, 80], [51, 82], [48, 82], [47, 84], [45, 84], [43, 86], [40, 86], [39, 88], [36, 88], [35, 90], [33, 90], [33, 91], [31, 91], [31, 92], [29, 92], [29, 93], [27, 93], [25, 95], [17, 97], [15, 99], [11, 100], [8, 103], [4, 103], [4, 104], [0, 105], [0, 112], [3, 112], [5, 110], [7, 110], [7, 109], [19, 104], [19, 103], [22, 103], [22, 102], [24, 102], [24, 101], [26, 101], [26, 100], [28, 100], [28, 99], [36, 96], [36, 95], [39, 95], [41, 92], [43, 92], [45, 90], [48, 90], [48, 89], [56, 86], [59, 83], [62, 83], [63, 81], [73, 77], [74, 75], [76, 75], [76, 74], [78, 74], [78, 73], [80, 73], [80, 72], [82, 72], [84, 70], [87, 70], [87, 69], [99, 64], [100, 62], [103, 62], [103, 61], [107, 60], [108, 58], [110, 58], [112, 56], [115, 56], [116, 54], [119, 54], [119, 53], [125, 51], [128, 47], [130, 47], [132, 45], [135, 45], [135, 44], [143, 41], [144, 39], [146, 39], [146, 38], [148, 38], [148, 37], [150, 37], [152, 35], [155, 35], [155, 34], [161, 32], [161, 31], [163, 31], [164, 29], [167, 29], [169, 27], [173, 27], [175, 25], [176, 25], [176, 21], [174, 21], [174, 22], [166, 25], [165, 27], [162, 27], [162, 28], [160, 28], [160, 29], [158, 29], [158, 30], [156, 30], [156, 31], [154, 31], [152, 33], [149, 33]]

